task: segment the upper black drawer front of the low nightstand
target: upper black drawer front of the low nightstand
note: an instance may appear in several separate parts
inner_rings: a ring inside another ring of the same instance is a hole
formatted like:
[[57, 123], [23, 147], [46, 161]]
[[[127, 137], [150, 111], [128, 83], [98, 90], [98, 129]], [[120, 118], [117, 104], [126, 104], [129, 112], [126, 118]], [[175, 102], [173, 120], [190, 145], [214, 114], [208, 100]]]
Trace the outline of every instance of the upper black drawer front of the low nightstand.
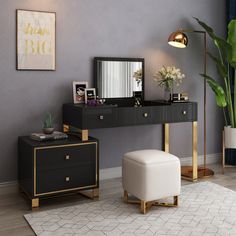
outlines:
[[38, 171], [96, 163], [97, 143], [36, 149]]

